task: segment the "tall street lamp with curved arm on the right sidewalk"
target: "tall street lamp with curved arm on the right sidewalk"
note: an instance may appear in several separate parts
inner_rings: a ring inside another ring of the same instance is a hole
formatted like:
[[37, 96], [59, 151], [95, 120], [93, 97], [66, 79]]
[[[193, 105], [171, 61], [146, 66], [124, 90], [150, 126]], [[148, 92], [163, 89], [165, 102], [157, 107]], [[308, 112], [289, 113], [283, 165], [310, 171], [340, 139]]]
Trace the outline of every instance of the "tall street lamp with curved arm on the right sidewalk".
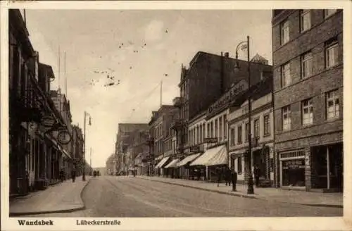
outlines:
[[[251, 62], [249, 61], [249, 36], [247, 36], [247, 41], [242, 41], [237, 45], [236, 48], [236, 64], [234, 69], [239, 69], [239, 62], [238, 62], [238, 49], [241, 46], [241, 50], [247, 49], [247, 58], [248, 58], [248, 86], [249, 90], [251, 89]], [[252, 135], [251, 135], [251, 92], [248, 94], [248, 119], [249, 119], [249, 127], [248, 127], [248, 142], [249, 142], [249, 179], [248, 179], [248, 189], [247, 194], [254, 194], [254, 187], [253, 187], [253, 175], [252, 175]]]

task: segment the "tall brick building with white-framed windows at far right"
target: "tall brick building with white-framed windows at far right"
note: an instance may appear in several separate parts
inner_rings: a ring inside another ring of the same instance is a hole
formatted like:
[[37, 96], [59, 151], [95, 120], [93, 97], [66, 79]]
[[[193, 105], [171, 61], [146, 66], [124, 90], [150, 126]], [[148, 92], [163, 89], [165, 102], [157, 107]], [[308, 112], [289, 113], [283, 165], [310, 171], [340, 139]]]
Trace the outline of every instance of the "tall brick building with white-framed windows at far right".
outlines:
[[343, 184], [343, 11], [272, 14], [275, 151], [281, 187]]

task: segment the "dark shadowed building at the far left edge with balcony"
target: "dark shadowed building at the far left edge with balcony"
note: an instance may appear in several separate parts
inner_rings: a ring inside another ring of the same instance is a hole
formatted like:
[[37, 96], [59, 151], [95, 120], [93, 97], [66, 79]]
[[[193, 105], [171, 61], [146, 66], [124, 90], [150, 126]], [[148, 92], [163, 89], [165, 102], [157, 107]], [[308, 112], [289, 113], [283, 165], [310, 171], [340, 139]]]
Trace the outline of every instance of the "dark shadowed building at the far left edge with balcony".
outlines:
[[20, 11], [8, 16], [10, 194], [16, 195], [57, 182], [61, 146], [44, 119], [64, 123], [49, 95], [51, 66], [39, 63]]

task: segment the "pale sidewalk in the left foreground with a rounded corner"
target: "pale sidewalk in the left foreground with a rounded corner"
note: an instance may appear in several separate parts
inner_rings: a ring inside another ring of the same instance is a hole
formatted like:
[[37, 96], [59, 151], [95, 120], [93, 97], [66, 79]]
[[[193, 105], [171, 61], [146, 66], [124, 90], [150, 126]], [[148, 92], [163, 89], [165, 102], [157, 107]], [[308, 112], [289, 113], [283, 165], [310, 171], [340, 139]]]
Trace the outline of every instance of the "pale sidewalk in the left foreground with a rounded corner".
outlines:
[[10, 216], [68, 213], [84, 209], [81, 193], [90, 178], [86, 176], [86, 181], [82, 181], [82, 177], [77, 177], [75, 182], [66, 180], [43, 191], [13, 199], [9, 207]]

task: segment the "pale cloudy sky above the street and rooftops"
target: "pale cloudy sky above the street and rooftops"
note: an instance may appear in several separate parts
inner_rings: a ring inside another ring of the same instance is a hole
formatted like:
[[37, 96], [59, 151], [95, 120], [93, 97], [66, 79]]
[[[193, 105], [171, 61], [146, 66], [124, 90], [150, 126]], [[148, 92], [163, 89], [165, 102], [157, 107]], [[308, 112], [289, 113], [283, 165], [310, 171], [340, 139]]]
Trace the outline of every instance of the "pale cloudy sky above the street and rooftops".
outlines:
[[251, 58], [258, 53], [272, 64], [271, 17], [269, 10], [26, 11], [39, 61], [54, 69], [51, 89], [67, 95], [73, 124], [83, 128], [84, 111], [92, 117], [86, 150], [92, 147], [94, 168], [113, 154], [118, 123], [149, 123], [161, 81], [163, 104], [180, 95], [181, 65], [188, 68], [196, 52], [234, 57], [249, 35]]

